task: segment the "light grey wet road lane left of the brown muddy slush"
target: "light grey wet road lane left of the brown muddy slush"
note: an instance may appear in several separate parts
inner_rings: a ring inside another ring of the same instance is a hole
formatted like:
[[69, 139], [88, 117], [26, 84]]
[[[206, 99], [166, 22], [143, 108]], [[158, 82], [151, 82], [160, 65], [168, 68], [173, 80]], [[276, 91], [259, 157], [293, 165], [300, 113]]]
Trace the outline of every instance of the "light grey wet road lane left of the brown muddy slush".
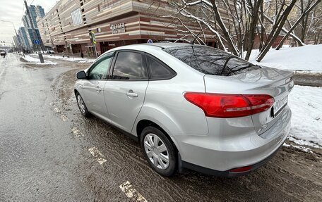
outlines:
[[51, 83], [64, 71], [0, 58], [0, 201], [93, 198], [77, 172], [84, 151], [50, 106]]

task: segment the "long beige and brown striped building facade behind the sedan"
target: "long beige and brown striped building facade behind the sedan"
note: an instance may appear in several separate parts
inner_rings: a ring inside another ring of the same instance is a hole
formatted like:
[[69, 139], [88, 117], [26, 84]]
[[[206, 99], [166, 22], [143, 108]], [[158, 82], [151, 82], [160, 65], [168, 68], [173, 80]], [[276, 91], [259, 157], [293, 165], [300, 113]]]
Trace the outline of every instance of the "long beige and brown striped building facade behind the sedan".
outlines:
[[[93, 54], [90, 32], [95, 33], [97, 53], [101, 54], [114, 46], [146, 43], [148, 39], [174, 41], [184, 36], [176, 29], [181, 25], [172, 20], [157, 18], [156, 11], [165, 15], [172, 8], [167, 1], [160, 6], [148, 0], [61, 0], [37, 22], [45, 46], [56, 51]], [[198, 25], [191, 25], [198, 30]], [[213, 35], [208, 42], [214, 43]], [[67, 47], [67, 48], [66, 48]]]

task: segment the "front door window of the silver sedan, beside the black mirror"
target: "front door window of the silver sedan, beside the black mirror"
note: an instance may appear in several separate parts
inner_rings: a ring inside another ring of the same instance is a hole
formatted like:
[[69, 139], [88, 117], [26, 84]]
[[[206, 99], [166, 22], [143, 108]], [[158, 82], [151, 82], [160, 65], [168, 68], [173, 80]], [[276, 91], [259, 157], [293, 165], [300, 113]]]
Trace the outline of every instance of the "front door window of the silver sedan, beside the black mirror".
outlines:
[[107, 70], [112, 61], [113, 53], [108, 54], [107, 56], [97, 61], [93, 68], [90, 69], [90, 73], [88, 75], [90, 80], [104, 80], [105, 75], [107, 75]]

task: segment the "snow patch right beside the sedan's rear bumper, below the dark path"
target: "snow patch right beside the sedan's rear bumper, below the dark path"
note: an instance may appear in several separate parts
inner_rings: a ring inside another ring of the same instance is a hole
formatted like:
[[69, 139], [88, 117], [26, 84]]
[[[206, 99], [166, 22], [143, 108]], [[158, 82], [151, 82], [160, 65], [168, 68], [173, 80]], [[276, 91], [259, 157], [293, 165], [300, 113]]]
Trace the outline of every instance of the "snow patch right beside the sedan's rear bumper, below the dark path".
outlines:
[[288, 105], [292, 110], [290, 141], [322, 148], [322, 87], [295, 85]]

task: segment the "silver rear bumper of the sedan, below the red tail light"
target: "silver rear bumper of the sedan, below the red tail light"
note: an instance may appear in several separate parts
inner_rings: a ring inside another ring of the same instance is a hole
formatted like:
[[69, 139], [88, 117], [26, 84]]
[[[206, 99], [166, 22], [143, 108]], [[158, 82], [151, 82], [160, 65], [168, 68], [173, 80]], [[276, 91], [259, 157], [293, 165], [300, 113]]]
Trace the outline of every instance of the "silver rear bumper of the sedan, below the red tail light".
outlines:
[[[234, 135], [222, 134], [222, 130], [215, 134], [215, 129], [210, 129], [213, 133], [207, 136], [175, 136], [182, 167], [211, 175], [245, 175], [265, 164], [280, 149], [290, 131], [291, 116], [290, 108], [285, 107], [275, 125], [260, 136], [254, 130], [243, 128]], [[219, 125], [222, 122], [217, 127]], [[245, 166], [251, 169], [238, 173], [229, 171]]]

